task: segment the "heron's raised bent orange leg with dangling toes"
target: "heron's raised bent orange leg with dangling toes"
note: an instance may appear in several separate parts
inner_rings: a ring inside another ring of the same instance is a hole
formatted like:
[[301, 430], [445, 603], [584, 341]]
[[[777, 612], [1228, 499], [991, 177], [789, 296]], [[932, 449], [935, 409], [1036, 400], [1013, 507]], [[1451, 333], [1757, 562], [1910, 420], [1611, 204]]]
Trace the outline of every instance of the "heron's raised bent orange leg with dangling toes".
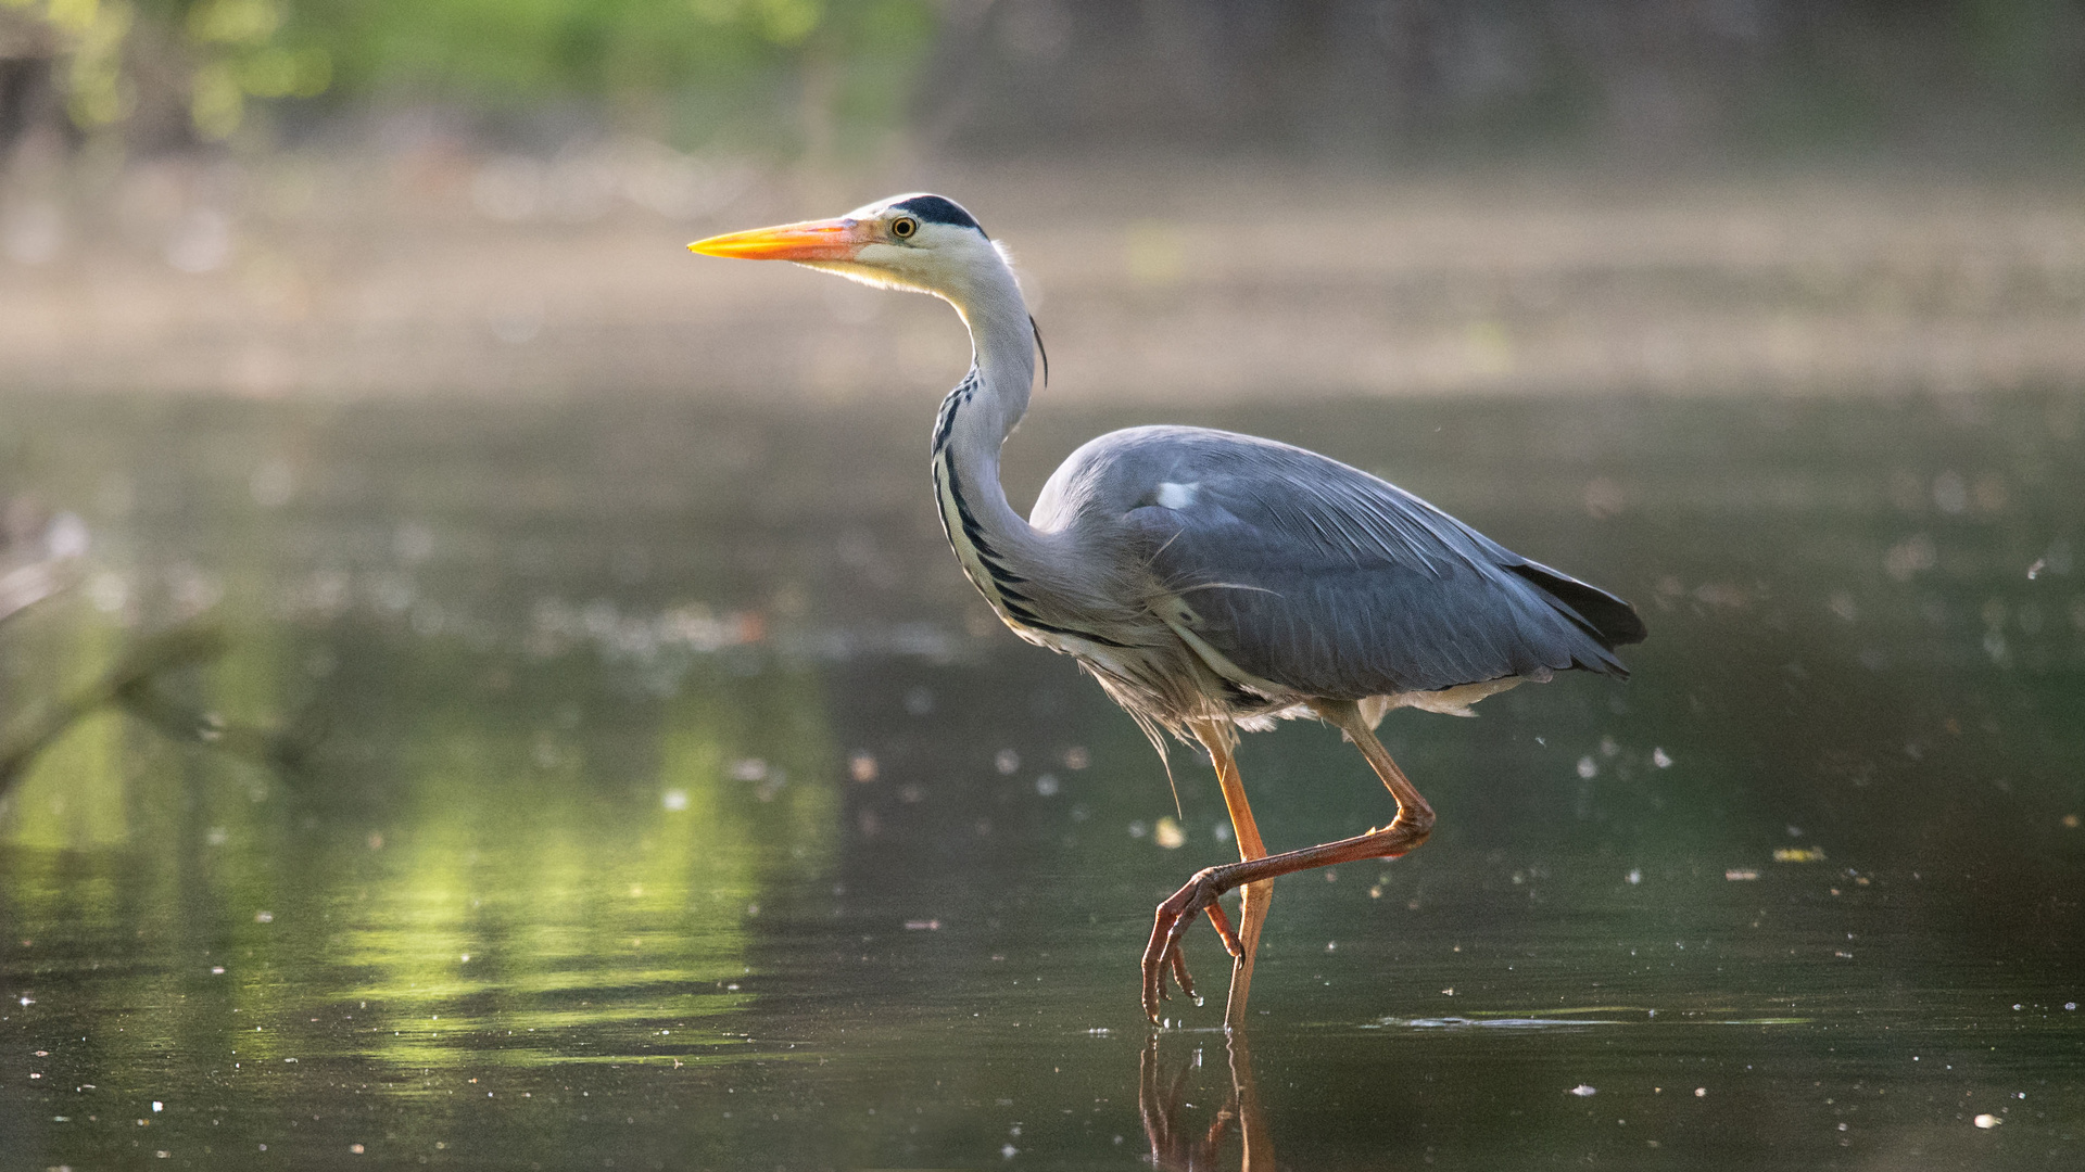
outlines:
[[[1341, 838], [1339, 843], [1326, 843], [1322, 847], [1284, 851], [1264, 859], [1226, 863], [1191, 878], [1186, 886], [1159, 905], [1157, 924], [1151, 930], [1151, 945], [1145, 949], [1145, 1016], [1153, 1022], [1159, 1014], [1159, 997], [1166, 993], [1166, 972], [1172, 970], [1178, 974], [1184, 968], [1178, 959], [1180, 936], [1186, 934], [1195, 915], [1209, 911], [1209, 920], [1218, 924], [1218, 932], [1228, 926], [1218, 920], [1222, 915], [1222, 909], [1216, 903], [1220, 895], [1238, 884], [1257, 884], [1311, 868], [1330, 868], [1357, 859], [1395, 859], [1397, 855], [1416, 849], [1428, 834], [1432, 834], [1432, 807], [1426, 805], [1418, 786], [1405, 778], [1405, 772], [1397, 767], [1397, 761], [1393, 761], [1389, 751], [1382, 749], [1382, 742], [1376, 740], [1374, 730], [1370, 730], [1368, 722], [1362, 719], [1359, 707], [1353, 701], [1314, 701], [1311, 709], [1316, 709], [1328, 724], [1345, 732], [1347, 740], [1353, 740], [1355, 749], [1362, 751], [1368, 765], [1391, 790], [1391, 797], [1397, 799], [1397, 817], [1382, 830], [1370, 830], [1368, 834], [1355, 834], [1353, 838]], [[1224, 932], [1224, 943], [1228, 945], [1230, 934]], [[1157, 988], [1153, 988], [1153, 984], [1157, 984]]]

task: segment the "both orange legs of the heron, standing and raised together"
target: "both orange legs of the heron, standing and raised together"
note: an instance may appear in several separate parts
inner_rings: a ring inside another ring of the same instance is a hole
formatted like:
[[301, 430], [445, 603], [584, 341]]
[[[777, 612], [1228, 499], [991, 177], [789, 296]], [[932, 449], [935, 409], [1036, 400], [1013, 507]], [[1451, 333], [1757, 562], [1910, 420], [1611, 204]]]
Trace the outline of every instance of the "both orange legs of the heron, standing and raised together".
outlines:
[[[1253, 813], [1245, 805], [1245, 788], [1238, 784], [1236, 763], [1230, 761], [1230, 730], [1222, 732], [1222, 755], [1211, 747], [1211, 755], [1218, 757], [1218, 778], [1224, 780], [1224, 801], [1230, 805], [1232, 826], [1238, 830], [1238, 851], [1247, 857], [1236, 863], [1226, 863], [1222, 868], [1207, 868], [1176, 890], [1157, 909], [1157, 922], [1151, 928], [1151, 943], [1145, 947], [1145, 1016], [1153, 1022], [1159, 1020], [1159, 1001], [1168, 997], [1166, 976], [1168, 972], [1180, 982], [1180, 988], [1193, 995], [1195, 986], [1186, 976], [1186, 961], [1180, 957], [1180, 938], [1186, 934], [1188, 926], [1195, 922], [1197, 913], [1207, 913], [1209, 924], [1224, 938], [1224, 947], [1230, 949], [1234, 957], [1234, 984], [1232, 1003], [1226, 1007], [1226, 1024], [1230, 1022], [1230, 1011], [1245, 1011], [1245, 997], [1238, 991], [1236, 978], [1245, 978], [1245, 986], [1251, 986], [1251, 951], [1247, 943], [1230, 930], [1230, 922], [1224, 915], [1218, 897], [1234, 886], [1247, 886], [1247, 905], [1241, 920], [1247, 920], [1251, 928], [1251, 945], [1259, 945], [1259, 922], [1253, 920], [1251, 890], [1253, 886], [1264, 886], [1268, 880], [1278, 876], [1311, 870], [1330, 868], [1336, 863], [1351, 863], [1357, 859], [1395, 859], [1426, 840], [1432, 834], [1434, 813], [1420, 797], [1420, 790], [1405, 778], [1405, 772], [1397, 767], [1382, 742], [1376, 740], [1374, 730], [1362, 719], [1359, 707], [1353, 701], [1314, 701], [1311, 709], [1326, 722], [1347, 734], [1347, 740], [1362, 751], [1368, 765], [1382, 778], [1382, 784], [1391, 790], [1397, 801], [1397, 817], [1382, 830], [1370, 830], [1368, 834], [1355, 834], [1353, 838], [1341, 838], [1336, 843], [1324, 843], [1322, 847], [1305, 847], [1301, 851], [1286, 851], [1280, 855], [1266, 855], [1266, 847], [1259, 843], [1259, 828], [1253, 826]], [[1211, 738], [1203, 732], [1203, 726], [1195, 726], [1195, 736], [1203, 744], [1211, 744]], [[1228, 772], [1224, 765], [1230, 765]], [[1232, 790], [1236, 788], [1236, 801], [1232, 803]], [[1241, 824], [1243, 811], [1243, 824]], [[1251, 828], [1251, 838], [1247, 840], [1247, 828]], [[1251, 849], [1247, 847], [1251, 843]], [[1257, 851], [1257, 857], [1249, 851]], [[1266, 905], [1259, 903], [1259, 920], [1266, 918]]]

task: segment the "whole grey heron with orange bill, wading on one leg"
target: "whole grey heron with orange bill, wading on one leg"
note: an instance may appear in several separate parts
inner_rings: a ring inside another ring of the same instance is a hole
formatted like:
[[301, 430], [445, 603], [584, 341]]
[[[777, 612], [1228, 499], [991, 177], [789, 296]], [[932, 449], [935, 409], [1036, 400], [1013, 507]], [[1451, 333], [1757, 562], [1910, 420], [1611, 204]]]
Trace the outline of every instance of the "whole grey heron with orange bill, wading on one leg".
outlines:
[[[932, 444], [934, 496], [963, 571], [1017, 636], [1078, 657], [1161, 753], [1161, 730], [1199, 740], [1238, 834], [1243, 861], [1199, 872], [1157, 909], [1143, 961], [1151, 1020], [1168, 972], [1193, 993], [1180, 936], [1197, 913], [1238, 959], [1234, 1022], [1264, 880], [1391, 859], [1426, 840], [1432, 809], [1374, 734], [1384, 711], [1466, 715], [1570, 667], [1624, 676], [1614, 649], [1643, 638], [1637, 611], [1614, 594], [1366, 471], [1230, 432], [1109, 432], [1063, 461], [1024, 521], [999, 484], [999, 448], [1028, 411], [1040, 336], [1005, 254], [940, 196], [892, 196], [690, 248], [928, 292], [970, 325], [974, 365], [942, 400]], [[1232, 747], [1238, 728], [1297, 715], [1353, 740], [1397, 799], [1389, 826], [1266, 853]], [[1218, 897], [1241, 884], [1236, 932]]]

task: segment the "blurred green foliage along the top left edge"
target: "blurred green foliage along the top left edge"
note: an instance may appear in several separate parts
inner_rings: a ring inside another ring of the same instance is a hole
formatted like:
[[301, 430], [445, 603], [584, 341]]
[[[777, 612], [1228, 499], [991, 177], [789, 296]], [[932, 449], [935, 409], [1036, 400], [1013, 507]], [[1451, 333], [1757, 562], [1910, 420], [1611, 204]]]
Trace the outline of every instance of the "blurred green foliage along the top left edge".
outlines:
[[[252, 102], [402, 98], [471, 106], [600, 100], [734, 119], [876, 121], [932, 42], [932, 0], [0, 0], [46, 27], [88, 131], [152, 100], [204, 140]], [[148, 81], [150, 79], [150, 81]], [[154, 92], [154, 86], [158, 92]], [[819, 108], [803, 108], [815, 104]]]

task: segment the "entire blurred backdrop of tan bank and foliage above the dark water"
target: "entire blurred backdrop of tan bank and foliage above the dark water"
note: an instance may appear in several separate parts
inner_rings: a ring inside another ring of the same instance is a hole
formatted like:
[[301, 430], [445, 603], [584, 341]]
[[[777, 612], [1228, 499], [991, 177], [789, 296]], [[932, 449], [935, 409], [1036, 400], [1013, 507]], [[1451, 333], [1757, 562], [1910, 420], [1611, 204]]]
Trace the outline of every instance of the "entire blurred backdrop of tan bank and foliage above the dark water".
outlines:
[[0, 150], [19, 390], [928, 394], [673, 248], [922, 188], [1063, 396], [2085, 369], [2066, 0], [8, 0]]

